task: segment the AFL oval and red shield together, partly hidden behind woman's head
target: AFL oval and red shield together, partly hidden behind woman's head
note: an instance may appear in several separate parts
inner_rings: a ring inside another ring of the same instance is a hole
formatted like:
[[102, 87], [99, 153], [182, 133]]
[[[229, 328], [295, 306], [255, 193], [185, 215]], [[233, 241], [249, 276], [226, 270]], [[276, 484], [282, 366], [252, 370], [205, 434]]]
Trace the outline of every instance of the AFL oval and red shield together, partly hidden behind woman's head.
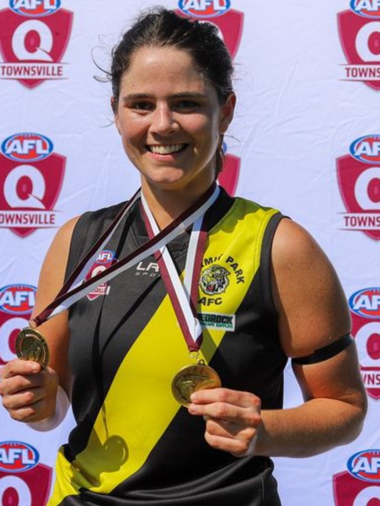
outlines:
[[232, 9], [230, 0], [180, 0], [176, 13], [214, 24], [232, 58], [235, 57], [242, 37], [244, 15]]

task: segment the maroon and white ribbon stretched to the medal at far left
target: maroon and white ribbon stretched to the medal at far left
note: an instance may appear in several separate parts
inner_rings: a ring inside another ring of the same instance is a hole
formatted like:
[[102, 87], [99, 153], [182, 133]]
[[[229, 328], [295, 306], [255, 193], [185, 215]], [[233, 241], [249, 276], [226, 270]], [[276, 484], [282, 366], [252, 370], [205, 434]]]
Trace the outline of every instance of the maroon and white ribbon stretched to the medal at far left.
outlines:
[[211, 185], [211, 187], [198, 199], [197, 202], [188, 207], [184, 213], [173, 220], [157, 235], [136, 248], [124, 259], [120, 260], [116, 264], [111, 265], [108, 267], [108, 269], [105, 269], [104, 271], [98, 273], [93, 278], [84, 281], [89, 268], [98, 258], [100, 251], [108, 242], [113, 231], [119, 225], [128, 210], [141, 196], [141, 190], [138, 190], [132, 199], [124, 205], [118, 216], [115, 218], [115, 220], [113, 220], [113, 222], [97, 240], [94, 246], [90, 248], [86, 256], [80, 261], [77, 267], [75, 267], [65, 284], [58, 292], [54, 301], [31, 321], [34, 322], [36, 326], [41, 325], [49, 318], [52, 318], [53, 316], [58, 315], [62, 311], [68, 309], [72, 304], [79, 301], [82, 297], [87, 295], [93, 289], [97, 288], [100, 284], [109, 281], [118, 274], [136, 265], [138, 262], [141, 262], [150, 255], [153, 255], [156, 251], [164, 248], [168, 242], [184, 232], [188, 227], [193, 225], [195, 221], [197, 221], [201, 216], [205, 214], [206, 210], [215, 201], [218, 193], [219, 188], [216, 186], [216, 184]]

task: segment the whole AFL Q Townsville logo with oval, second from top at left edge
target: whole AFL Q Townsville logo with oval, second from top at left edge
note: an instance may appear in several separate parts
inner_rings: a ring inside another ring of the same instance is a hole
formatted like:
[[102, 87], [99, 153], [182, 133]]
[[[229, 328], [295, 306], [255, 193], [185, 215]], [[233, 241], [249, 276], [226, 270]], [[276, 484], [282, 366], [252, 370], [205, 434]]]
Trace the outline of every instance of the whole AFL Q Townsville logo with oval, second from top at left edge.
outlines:
[[24, 237], [36, 228], [55, 228], [53, 207], [61, 190], [66, 158], [36, 133], [14, 134], [1, 143], [0, 228]]

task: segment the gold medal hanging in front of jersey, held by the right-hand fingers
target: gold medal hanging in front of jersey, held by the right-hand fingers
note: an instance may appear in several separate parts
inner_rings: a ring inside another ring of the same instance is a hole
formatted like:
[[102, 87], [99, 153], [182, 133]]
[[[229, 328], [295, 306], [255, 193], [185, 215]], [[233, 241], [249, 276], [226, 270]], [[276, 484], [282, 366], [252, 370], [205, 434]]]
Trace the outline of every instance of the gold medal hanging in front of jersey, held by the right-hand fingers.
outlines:
[[191, 403], [190, 396], [198, 390], [221, 387], [217, 372], [202, 362], [182, 367], [172, 381], [172, 392], [176, 401], [182, 406]]

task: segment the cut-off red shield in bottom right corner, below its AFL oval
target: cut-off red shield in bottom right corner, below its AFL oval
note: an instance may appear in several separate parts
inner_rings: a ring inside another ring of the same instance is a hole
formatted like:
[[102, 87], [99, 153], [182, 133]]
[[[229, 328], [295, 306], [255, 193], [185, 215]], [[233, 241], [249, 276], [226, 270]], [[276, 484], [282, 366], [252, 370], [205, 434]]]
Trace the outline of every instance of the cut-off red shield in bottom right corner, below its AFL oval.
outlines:
[[335, 506], [369, 506], [380, 504], [380, 487], [357, 480], [347, 471], [333, 477]]

